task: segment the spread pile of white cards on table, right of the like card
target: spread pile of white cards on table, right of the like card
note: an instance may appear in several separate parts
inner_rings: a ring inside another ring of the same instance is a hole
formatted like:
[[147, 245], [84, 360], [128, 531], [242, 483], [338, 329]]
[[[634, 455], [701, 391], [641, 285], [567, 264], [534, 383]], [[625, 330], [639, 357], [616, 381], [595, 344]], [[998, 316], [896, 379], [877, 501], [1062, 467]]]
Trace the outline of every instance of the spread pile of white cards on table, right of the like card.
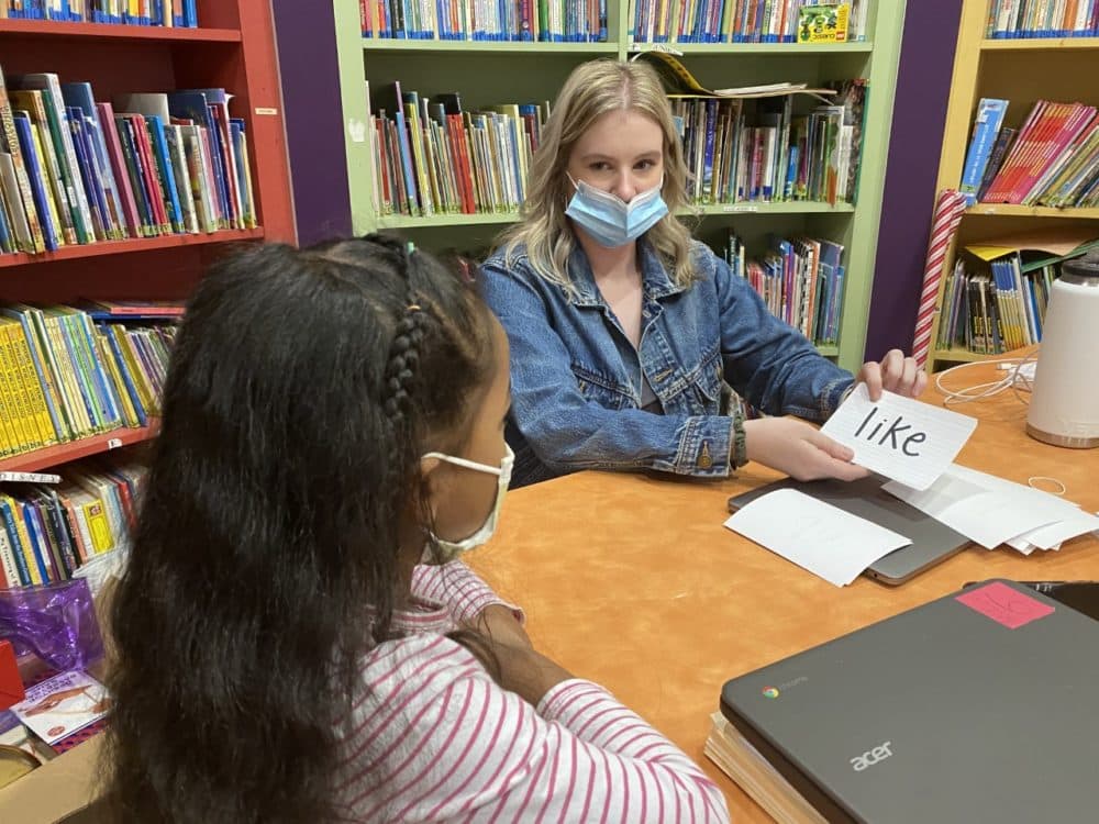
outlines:
[[882, 489], [987, 549], [1079, 511], [1056, 495], [956, 464], [923, 491], [897, 481]]

